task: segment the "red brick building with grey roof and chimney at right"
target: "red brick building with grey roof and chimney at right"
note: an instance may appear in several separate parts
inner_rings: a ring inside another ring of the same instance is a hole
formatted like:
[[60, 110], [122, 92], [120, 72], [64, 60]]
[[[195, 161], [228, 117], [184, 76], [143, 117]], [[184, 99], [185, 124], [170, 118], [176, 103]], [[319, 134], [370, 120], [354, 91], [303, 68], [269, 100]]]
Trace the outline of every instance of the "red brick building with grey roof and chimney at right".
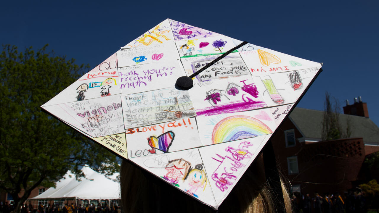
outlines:
[[[343, 192], [366, 181], [367, 155], [379, 151], [379, 128], [368, 117], [366, 103], [355, 102], [339, 114], [347, 139], [322, 141], [324, 111], [294, 108], [273, 136], [274, 152], [282, 174], [301, 194]], [[371, 174], [372, 175], [372, 174]]]

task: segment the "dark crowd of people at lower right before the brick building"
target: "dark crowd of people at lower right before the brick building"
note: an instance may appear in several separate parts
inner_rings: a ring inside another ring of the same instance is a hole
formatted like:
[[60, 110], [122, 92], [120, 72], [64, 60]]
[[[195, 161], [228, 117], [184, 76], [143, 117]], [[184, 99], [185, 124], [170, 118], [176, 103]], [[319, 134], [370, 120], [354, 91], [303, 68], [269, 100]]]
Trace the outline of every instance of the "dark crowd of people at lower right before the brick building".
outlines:
[[360, 191], [349, 191], [344, 194], [325, 193], [321, 196], [315, 193], [313, 197], [309, 194], [301, 196], [294, 193], [291, 203], [295, 213], [361, 213], [367, 212], [366, 200]]

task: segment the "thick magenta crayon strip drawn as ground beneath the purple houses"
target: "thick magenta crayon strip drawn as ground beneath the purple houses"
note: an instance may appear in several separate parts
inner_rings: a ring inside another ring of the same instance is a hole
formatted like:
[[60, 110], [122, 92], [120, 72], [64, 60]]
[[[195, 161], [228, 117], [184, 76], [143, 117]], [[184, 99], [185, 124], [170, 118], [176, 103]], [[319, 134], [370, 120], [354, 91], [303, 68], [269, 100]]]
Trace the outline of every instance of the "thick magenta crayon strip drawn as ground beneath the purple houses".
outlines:
[[222, 105], [199, 109], [199, 110], [196, 110], [196, 114], [197, 116], [200, 116], [200, 115], [210, 116], [210, 115], [220, 114], [220, 113], [235, 113], [235, 112], [241, 112], [241, 111], [247, 111], [247, 110], [254, 110], [254, 109], [258, 109], [262, 107], [267, 107], [266, 103], [263, 101], [249, 100], [249, 102], [246, 102], [246, 101], [238, 100], [238, 101], [229, 102]]

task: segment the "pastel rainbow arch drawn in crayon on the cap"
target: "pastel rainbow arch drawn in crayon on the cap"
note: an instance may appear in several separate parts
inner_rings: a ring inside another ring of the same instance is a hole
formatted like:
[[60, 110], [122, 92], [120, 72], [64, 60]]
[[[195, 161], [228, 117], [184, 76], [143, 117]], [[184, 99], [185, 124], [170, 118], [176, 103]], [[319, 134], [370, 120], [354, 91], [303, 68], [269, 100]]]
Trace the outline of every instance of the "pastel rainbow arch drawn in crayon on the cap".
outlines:
[[254, 117], [244, 115], [230, 116], [215, 125], [212, 132], [212, 143], [218, 144], [270, 133], [273, 133], [273, 131]]

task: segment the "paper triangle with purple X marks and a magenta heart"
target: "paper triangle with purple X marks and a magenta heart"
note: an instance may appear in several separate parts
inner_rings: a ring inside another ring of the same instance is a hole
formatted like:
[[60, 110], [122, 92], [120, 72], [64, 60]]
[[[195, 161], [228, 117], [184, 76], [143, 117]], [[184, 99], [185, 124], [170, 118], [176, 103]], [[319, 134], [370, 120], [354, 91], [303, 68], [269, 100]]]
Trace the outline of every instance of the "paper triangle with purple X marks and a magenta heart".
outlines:
[[221, 34], [169, 19], [175, 41], [219, 36]]

